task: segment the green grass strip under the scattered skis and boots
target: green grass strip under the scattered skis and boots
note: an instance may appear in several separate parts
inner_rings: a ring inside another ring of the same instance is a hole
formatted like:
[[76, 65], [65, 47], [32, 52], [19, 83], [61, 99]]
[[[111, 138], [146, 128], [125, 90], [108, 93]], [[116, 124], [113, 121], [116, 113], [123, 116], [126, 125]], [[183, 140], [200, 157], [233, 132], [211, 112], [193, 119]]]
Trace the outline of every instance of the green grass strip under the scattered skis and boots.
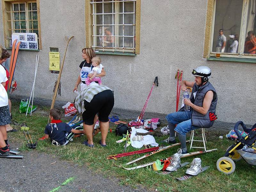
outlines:
[[[30, 127], [30, 133], [33, 140], [38, 140], [44, 136], [44, 128], [48, 121], [47, 115], [32, 114], [32, 116], [25, 116], [25, 114], [20, 114], [18, 111], [18, 104], [14, 103], [12, 107], [13, 120], [19, 123], [26, 122]], [[49, 110], [49, 108], [38, 108], [39, 110]], [[45, 114], [45, 113], [43, 113]], [[110, 124], [112, 129], [115, 129], [114, 124]], [[164, 126], [164, 125], [162, 125]], [[86, 165], [88, 168], [92, 169], [96, 173], [103, 174], [105, 177], [116, 177], [120, 179], [120, 185], [130, 185], [134, 188], [144, 187], [151, 190], [157, 189], [157, 191], [255, 191], [256, 180], [255, 180], [255, 167], [247, 164], [244, 160], [236, 163], [236, 170], [231, 175], [225, 175], [219, 172], [216, 168], [217, 160], [224, 155], [226, 148], [233, 144], [225, 138], [219, 139], [219, 134], [213, 132], [206, 132], [207, 139], [207, 149], [218, 148], [217, 151], [182, 158], [181, 162], [191, 162], [193, 158], [200, 157], [202, 159], [202, 165], [209, 165], [210, 168], [203, 173], [200, 173], [196, 177], [192, 177], [185, 181], [177, 181], [175, 177], [181, 177], [185, 174], [186, 169], [189, 167], [183, 167], [178, 169], [178, 171], [173, 172], [168, 175], [158, 175], [155, 171], [151, 171], [147, 168], [140, 168], [133, 171], [124, 170], [120, 167], [116, 167], [112, 161], [107, 160], [108, 155], [123, 153], [124, 142], [117, 144], [116, 140], [121, 139], [121, 137], [116, 137], [115, 133], [109, 133], [107, 137], [107, 148], [102, 148], [99, 145], [100, 134], [95, 136], [94, 148], [88, 148], [82, 145], [82, 141], [85, 140], [85, 136], [80, 138], [75, 138], [73, 142], [70, 142], [67, 146], [56, 147], [51, 144], [49, 140], [37, 141], [38, 152], [55, 154], [60, 159], [68, 161], [71, 163], [77, 163], [79, 165]], [[28, 150], [26, 147], [26, 142], [24, 135], [21, 131], [16, 133], [8, 134], [9, 140], [11, 142], [21, 143], [20, 149], [22, 151]], [[159, 142], [164, 137], [155, 137], [156, 141]], [[188, 144], [187, 144], [188, 146]], [[163, 152], [155, 154], [153, 156], [147, 157], [143, 160], [136, 162], [136, 164], [131, 164], [129, 167], [133, 167], [140, 164], [149, 163], [155, 161], [156, 159], [163, 159], [171, 156], [177, 151], [178, 147], [167, 149]], [[132, 148], [129, 146], [127, 148], [129, 151], [140, 150]], [[189, 150], [196, 151], [196, 149]], [[126, 156], [118, 158], [114, 161], [115, 164], [124, 164], [135, 158], [138, 158], [144, 154]]]

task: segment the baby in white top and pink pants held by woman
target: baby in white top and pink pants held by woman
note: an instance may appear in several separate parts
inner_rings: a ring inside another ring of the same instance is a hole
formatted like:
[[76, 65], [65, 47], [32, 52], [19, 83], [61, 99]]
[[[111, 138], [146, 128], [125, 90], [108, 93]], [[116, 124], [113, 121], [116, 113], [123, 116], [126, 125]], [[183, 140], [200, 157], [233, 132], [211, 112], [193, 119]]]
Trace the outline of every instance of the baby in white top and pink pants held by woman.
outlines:
[[96, 77], [97, 74], [101, 73], [102, 68], [104, 68], [104, 66], [100, 62], [101, 62], [100, 57], [93, 57], [92, 58], [93, 68], [92, 68], [90, 73], [92, 73], [93, 75], [92, 75], [91, 78], [89, 78], [89, 77], [86, 78], [85, 83], [86, 83], [87, 86], [89, 86], [90, 83], [93, 82], [93, 81], [97, 81], [99, 83], [99, 85], [102, 84], [100, 77]]

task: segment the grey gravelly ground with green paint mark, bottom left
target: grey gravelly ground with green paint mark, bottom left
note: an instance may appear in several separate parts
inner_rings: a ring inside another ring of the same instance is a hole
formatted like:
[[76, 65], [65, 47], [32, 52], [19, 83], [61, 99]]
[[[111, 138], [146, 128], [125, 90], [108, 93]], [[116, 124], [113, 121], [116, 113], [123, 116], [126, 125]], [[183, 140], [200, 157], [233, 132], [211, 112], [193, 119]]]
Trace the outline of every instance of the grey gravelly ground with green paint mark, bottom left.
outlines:
[[[15, 148], [17, 144], [11, 143]], [[147, 191], [118, 185], [116, 178], [104, 178], [89, 170], [86, 166], [78, 166], [62, 161], [52, 155], [38, 153], [34, 150], [21, 152], [23, 159], [1, 158], [0, 191]], [[54, 163], [56, 162], [56, 163]], [[54, 163], [50, 165], [51, 163]], [[61, 185], [69, 178], [74, 178], [66, 185]]]

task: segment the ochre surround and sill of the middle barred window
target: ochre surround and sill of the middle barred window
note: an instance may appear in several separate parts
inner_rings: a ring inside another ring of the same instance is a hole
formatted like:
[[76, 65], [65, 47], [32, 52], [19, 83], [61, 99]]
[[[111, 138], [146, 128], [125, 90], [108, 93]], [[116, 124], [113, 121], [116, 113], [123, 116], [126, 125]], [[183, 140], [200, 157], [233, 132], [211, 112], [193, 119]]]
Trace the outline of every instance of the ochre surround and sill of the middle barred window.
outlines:
[[[86, 47], [93, 47], [93, 6], [91, 4], [92, 0], [85, 0], [85, 45]], [[97, 54], [116, 54], [116, 55], [136, 55], [140, 54], [140, 0], [136, 0], [136, 21], [135, 21], [135, 51], [126, 51], [127, 49], [121, 49], [122, 51], [116, 51], [113, 48], [104, 48], [102, 51], [95, 51]]]

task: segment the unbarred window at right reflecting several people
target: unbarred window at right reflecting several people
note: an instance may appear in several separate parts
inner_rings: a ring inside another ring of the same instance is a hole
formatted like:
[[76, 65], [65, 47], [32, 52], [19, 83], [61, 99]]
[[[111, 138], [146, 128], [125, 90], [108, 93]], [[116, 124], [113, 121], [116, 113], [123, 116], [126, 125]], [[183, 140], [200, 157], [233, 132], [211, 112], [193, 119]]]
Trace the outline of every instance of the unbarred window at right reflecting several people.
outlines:
[[[213, 12], [210, 56], [220, 53], [220, 57], [255, 58], [256, 1], [212, 0], [208, 1], [208, 9], [211, 2]], [[207, 34], [205, 37], [207, 38]]]

